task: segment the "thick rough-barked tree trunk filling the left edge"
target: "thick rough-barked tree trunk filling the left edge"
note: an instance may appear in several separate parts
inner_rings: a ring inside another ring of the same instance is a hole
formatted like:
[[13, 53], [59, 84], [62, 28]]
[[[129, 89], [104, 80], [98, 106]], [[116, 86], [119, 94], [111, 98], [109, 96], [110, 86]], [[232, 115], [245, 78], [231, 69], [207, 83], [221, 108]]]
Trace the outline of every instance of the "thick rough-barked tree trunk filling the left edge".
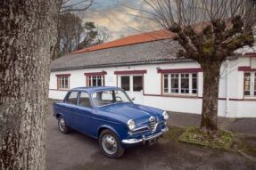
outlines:
[[0, 2], [0, 169], [45, 169], [58, 0]]

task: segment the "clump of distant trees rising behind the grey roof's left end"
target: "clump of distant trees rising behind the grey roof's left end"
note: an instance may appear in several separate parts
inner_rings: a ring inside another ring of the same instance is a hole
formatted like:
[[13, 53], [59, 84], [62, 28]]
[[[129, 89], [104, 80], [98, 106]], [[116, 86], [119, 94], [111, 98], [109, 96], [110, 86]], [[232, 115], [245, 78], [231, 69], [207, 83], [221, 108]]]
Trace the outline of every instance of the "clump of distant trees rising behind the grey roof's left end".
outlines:
[[96, 27], [94, 22], [82, 20], [75, 14], [65, 12], [60, 15], [56, 57], [66, 53], [103, 44], [111, 36], [107, 28]]

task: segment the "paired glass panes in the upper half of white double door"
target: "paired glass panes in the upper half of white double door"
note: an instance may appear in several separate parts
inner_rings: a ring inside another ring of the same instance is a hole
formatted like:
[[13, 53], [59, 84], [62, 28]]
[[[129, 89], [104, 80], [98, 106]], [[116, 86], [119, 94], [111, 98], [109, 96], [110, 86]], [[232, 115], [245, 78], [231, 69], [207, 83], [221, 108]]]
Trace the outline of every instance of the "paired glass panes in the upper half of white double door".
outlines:
[[141, 92], [143, 90], [143, 76], [121, 76], [120, 85], [125, 91]]

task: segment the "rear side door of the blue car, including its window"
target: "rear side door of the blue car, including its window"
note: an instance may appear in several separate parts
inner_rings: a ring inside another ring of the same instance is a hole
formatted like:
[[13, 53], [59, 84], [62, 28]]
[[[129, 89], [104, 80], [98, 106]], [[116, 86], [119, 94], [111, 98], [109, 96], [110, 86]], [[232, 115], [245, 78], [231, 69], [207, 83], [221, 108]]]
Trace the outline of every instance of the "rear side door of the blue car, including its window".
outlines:
[[65, 99], [65, 102], [63, 103], [64, 109], [63, 109], [63, 116], [67, 123], [72, 128], [76, 128], [76, 125], [74, 124], [74, 112], [77, 108], [78, 104], [78, 92], [73, 91], [70, 92], [69, 96]]

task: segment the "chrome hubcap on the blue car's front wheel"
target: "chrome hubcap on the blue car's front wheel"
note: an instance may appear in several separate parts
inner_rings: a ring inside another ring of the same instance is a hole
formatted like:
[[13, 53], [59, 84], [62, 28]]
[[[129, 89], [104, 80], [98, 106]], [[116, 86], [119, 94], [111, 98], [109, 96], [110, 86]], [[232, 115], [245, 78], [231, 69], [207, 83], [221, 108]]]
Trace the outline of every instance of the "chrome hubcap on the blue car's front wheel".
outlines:
[[118, 144], [111, 134], [105, 134], [102, 140], [103, 150], [108, 154], [114, 154], [118, 149]]

